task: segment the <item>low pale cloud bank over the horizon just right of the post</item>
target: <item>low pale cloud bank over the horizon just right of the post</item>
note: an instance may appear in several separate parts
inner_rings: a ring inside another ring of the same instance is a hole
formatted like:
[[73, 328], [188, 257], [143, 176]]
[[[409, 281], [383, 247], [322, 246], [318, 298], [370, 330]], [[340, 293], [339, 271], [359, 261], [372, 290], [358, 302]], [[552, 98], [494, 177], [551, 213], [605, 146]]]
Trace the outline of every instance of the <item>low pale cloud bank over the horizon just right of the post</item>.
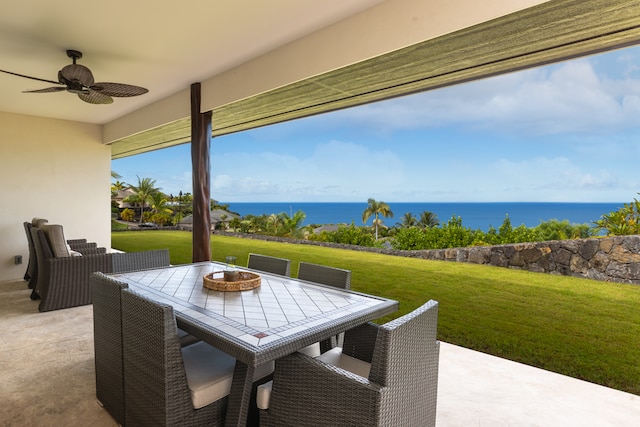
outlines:
[[216, 157], [212, 197], [223, 201], [366, 200], [405, 182], [392, 151], [330, 141], [307, 157], [274, 152], [234, 152]]

